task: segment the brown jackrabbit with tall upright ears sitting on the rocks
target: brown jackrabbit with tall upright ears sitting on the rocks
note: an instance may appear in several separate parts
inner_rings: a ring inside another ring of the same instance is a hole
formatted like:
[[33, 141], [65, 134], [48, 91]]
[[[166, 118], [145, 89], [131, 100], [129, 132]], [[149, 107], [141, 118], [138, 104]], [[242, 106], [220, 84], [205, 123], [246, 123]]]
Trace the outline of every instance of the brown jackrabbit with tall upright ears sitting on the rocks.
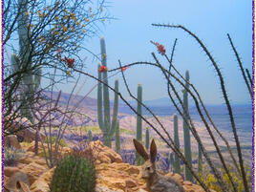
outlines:
[[157, 145], [154, 139], [150, 144], [150, 156], [137, 139], [134, 139], [134, 145], [139, 155], [145, 160], [142, 165], [142, 179], [146, 180], [147, 190], [150, 192], [185, 192], [178, 181], [157, 173], [155, 164]]

